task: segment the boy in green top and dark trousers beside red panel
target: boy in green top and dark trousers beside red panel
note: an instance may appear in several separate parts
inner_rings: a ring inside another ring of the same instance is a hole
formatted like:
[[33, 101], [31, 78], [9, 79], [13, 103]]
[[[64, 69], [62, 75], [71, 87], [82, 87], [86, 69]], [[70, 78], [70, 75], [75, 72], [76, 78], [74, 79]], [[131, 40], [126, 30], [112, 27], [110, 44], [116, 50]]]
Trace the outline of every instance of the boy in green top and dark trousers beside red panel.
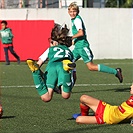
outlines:
[[0, 40], [2, 41], [5, 52], [6, 65], [10, 65], [8, 50], [17, 59], [18, 64], [20, 64], [20, 57], [16, 54], [13, 48], [12, 30], [7, 27], [7, 21], [1, 21], [1, 28], [2, 29], [0, 30]]

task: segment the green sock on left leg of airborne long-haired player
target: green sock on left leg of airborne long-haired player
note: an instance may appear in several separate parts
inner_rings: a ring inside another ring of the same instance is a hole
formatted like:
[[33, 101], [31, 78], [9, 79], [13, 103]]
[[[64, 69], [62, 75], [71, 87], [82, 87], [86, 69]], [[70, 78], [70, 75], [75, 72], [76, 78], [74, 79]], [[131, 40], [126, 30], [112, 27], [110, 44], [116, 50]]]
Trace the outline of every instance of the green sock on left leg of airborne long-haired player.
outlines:
[[41, 95], [47, 93], [48, 89], [47, 89], [46, 83], [42, 79], [40, 70], [33, 72], [32, 76], [33, 76], [34, 84], [36, 86], [36, 90], [37, 90], [38, 94], [41, 96]]

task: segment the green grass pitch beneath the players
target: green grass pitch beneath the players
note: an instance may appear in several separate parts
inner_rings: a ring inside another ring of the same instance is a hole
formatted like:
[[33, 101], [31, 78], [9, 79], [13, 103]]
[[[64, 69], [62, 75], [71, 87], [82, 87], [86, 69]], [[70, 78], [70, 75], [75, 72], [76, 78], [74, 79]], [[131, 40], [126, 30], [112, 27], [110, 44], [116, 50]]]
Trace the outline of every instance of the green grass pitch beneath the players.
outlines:
[[[77, 82], [71, 98], [64, 100], [54, 94], [49, 103], [41, 101], [37, 94], [31, 71], [25, 62], [10, 66], [0, 62], [1, 101], [4, 109], [0, 119], [0, 133], [133, 133], [129, 123], [116, 125], [78, 125], [71, 120], [72, 114], [79, 113], [79, 98], [88, 94], [118, 105], [129, 97], [133, 82], [133, 61], [95, 60], [113, 68], [121, 67], [124, 81], [111, 74], [91, 72], [83, 61], [77, 61]], [[42, 66], [45, 69], [46, 64]], [[90, 111], [90, 113], [92, 113]]]

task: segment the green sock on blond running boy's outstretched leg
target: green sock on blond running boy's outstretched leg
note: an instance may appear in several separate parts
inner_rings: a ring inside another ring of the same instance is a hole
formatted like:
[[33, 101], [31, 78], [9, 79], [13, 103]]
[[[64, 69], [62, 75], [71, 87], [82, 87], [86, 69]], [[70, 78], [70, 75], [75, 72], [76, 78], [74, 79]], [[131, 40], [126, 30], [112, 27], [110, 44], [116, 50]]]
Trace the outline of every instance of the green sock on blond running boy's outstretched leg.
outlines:
[[98, 64], [98, 71], [99, 72], [105, 72], [116, 75], [117, 70], [108, 66], [105, 66], [103, 64]]

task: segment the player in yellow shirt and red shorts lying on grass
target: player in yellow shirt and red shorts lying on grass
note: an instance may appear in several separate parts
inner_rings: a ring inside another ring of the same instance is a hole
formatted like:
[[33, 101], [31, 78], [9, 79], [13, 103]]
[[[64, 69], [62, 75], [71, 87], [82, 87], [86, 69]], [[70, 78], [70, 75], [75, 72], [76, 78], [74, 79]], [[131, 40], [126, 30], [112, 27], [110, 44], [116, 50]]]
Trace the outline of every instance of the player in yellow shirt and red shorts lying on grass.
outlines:
[[[133, 85], [130, 94], [129, 99], [119, 106], [112, 106], [94, 97], [82, 95], [80, 97], [81, 113], [74, 114], [73, 118], [79, 124], [117, 124], [130, 121], [133, 118]], [[94, 111], [94, 116], [89, 116], [90, 108]]]

